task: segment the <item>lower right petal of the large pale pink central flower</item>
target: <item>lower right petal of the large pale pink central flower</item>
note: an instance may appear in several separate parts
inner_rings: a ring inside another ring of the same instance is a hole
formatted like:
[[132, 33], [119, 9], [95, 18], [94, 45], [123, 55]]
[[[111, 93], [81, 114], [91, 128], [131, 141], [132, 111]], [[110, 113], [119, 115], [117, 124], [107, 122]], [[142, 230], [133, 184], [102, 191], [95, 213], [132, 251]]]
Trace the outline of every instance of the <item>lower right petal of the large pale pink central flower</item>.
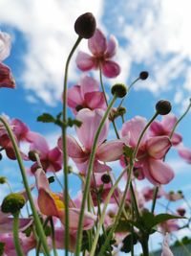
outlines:
[[103, 162], [118, 160], [123, 154], [124, 143], [114, 140], [101, 144], [96, 151], [96, 158]]

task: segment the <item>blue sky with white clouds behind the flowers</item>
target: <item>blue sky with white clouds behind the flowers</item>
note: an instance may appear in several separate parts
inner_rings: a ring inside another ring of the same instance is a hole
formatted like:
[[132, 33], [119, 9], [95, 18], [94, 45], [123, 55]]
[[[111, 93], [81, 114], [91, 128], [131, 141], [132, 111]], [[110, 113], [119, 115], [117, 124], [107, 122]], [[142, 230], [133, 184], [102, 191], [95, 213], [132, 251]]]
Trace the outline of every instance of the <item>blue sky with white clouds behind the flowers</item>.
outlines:
[[[191, 97], [190, 8], [190, 0], [1, 0], [0, 30], [12, 36], [11, 56], [5, 63], [11, 66], [16, 89], [0, 89], [0, 113], [23, 120], [55, 145], [58, 129], [35, 120], [42, 112], [60, 111], [63, 67], [76, 38], [74, 20], [83, 12], [94, 12], [97, 27], [118, 39], [116, 59], [122, 72], [115, 80], [104, 80], [108, 93], [116, 81], [129, 84], [141, 70], [150, 73], [150, 78], [138, 82], [125, 100], [126, 118], [151, 117], [159, 99], [170, 100], [173, 112], [180, 116]], [[87, 51], [87, 41], [79, 48]], [[98, 78], [96, 72], [92, 75]], [[73, 60], [69, 84], [79, 77]], [[189, 113], [178, 128], [189, 148], [190, 128]], [[170, 152], [167, 161], [177, 174], [167, 188], [184, 187], [189, 197], [190, 166], [176, 151]], [[6, 168], [14, 168], [6, 160], [0, 164], [4, 174]], [[13, 180], [11, 183], [16, 187]]]

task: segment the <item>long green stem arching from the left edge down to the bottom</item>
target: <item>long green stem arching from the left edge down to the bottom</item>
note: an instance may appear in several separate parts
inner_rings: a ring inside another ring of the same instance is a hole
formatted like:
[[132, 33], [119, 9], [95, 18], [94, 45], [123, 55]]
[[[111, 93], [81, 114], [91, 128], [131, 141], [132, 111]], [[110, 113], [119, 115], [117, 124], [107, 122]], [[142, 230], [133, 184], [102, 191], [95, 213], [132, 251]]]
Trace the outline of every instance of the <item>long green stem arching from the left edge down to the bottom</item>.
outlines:
[[48, 244], [47, 244], [47, 239], [46, 239], [44, 230], [42, 228], [42, 224], [40, 222], [40, 219], [38, 217], [38, 214], [36, 212], [36, 209], [35, 209], [35, 206], [34, 206], [34, 203], [33, 203], [32, 193], [31, 193], [31, 189], [30, 189], [30, 186], [29, 186], [29, 183], [28, 183], [25, 167], [24, 167], [24, 164], [23, 164], [23, 160], [22, 160], [20, 151], [19, 151], [18, 146], [16, 144], [16, 140], [14, 138], [14, 134], [11, 131], [11, 128], [10, 128], [9, 124], [7, 123], [7, 121], [1, 116], [0, 116], [0, 121], [3, 123], [3, 125], [7, 129], [7, 132], [9, 134], [10, 139], [11, 139], [12, 147], [14, 149], [16, 159], [17, 159], [20, 171], [21, 171], [22, 178], [23, 178], [23, 184], [25, 186], [25, 190], [27, 192], [27, 195], [28, 195], [28, 198], [29, 198], [29, 201], [30, 201], [30, 205], [31, 205], [31, 208], [32, 208], [32, 216], [33, 216], [33, 220], [34, 220], [34, 223], [35, 223], [35, 226], [36, 226], [37, 234], [38, 234], [38, 236], [39, 236], [39, 238], [40, 238], [40, 240], [43, 244], [44, 251], [45, 251], [46, 255], [50, 255], [49, 247], [48, 247]]

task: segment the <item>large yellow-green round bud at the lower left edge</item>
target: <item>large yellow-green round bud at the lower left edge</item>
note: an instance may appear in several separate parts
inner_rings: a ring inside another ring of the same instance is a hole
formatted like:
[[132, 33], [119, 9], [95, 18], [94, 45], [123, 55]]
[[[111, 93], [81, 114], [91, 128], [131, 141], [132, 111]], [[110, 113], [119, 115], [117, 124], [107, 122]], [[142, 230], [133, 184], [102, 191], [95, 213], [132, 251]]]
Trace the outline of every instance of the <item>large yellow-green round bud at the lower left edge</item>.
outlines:
[[12, 215], [19, 212], [20, 209], [25, 205], [25, 198], [23, 195], [18, 193], [11, 193], [4, 198], [1, 210], [3, 213], [11, 213]]

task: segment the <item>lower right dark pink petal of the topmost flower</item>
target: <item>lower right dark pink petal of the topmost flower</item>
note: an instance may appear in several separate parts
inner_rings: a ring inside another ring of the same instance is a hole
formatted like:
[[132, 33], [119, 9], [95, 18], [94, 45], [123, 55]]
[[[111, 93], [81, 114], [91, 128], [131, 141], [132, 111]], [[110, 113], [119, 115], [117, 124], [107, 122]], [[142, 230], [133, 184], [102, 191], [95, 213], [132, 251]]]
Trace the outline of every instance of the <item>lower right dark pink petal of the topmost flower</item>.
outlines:
[[106, 60], [101, 63], [103, 75], [107, 78], [116, 78], [120, 73], [120, 66], [113, 60]]

